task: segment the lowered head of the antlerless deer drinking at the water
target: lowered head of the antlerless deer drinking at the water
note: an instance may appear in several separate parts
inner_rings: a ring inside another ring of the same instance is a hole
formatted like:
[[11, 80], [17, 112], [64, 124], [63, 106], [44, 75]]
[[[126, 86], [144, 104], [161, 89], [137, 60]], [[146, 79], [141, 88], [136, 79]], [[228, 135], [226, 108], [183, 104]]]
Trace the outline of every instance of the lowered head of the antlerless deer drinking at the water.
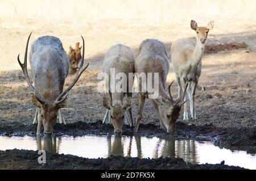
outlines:
[[108, 96], [104, 96], [102, 105], [110, 110], [110, 119], [112, 121], [115, 134], [122, 133], [123, 120], [125, 119], [125, 110], [131, 107], [131, 98], [127, 97], [127, 102], [112, 102]]

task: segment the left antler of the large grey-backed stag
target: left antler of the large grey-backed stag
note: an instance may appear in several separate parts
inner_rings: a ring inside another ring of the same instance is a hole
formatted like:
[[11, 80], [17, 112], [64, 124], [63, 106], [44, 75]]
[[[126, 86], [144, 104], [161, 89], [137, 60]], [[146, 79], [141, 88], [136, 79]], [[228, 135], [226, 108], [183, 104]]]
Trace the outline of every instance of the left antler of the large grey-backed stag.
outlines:
[[[30, 33], [31, 36], [32, 32]], [[36, 95], [36, 99], [38, 99], [38, 101], [41, 104], [45, 104], [46, 102], [44, 101], [44, 99], [42, 98], [42, 96], [39, 94], [38, 91], [36, 91], [35, 87], [32, 85], [31, 81], [30, 81], [30, 77], [28, 77], [28, 73], [27, 73], [27, 48], [28, 48], [28, 42], [30, 41], [30, 36], [28, 36], [27, 39], [27, 45], [26, 45], [26, 50], [25, 50], [25, 56], [24, 56], [24, 63], [22, 64], [19, 60], [19, 54], [18, 54], [18, 62], [20, 67], [22, 68], [23, 74], [26, 78], [26, 81], [28, 83], [28, 86], [30, 86], [30, 89], [34, 92], [34, 94]]]

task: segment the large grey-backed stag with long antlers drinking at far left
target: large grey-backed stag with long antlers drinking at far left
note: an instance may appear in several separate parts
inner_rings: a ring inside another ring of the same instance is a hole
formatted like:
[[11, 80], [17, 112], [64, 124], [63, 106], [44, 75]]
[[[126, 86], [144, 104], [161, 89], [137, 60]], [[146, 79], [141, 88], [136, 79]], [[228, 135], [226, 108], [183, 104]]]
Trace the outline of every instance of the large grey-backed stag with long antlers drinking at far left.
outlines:
[[44, 134], [52, 134], [57, 112], [59, 113], [60, 123], [65, 124], [60, 108], [65, 107], [68, 91], [72, 89], [82, 72], [89, 65], [87, 64], [84, 68], [82, 67], [84, 60], [84, 38], [82, 37], [83, 58], [79, 71], [73, 82], [63, 91], [65, 78], [68, 75], [69, 63], [61, 41], [54, 36], [42, 36], [32, 44], [30, 65], [35, 83], [35, 86], [33, 86], [27, 73], [27, 49], [30, 36], [27, 39], [24, 63], [20, 62], [19, 55], [18, 62], [30, 89], [34, 92], [31, 100], [32, 104], [37, 107], [33, 122], [33, 124], [38, 123], [36, 134], [40, 134], [42, 122]]

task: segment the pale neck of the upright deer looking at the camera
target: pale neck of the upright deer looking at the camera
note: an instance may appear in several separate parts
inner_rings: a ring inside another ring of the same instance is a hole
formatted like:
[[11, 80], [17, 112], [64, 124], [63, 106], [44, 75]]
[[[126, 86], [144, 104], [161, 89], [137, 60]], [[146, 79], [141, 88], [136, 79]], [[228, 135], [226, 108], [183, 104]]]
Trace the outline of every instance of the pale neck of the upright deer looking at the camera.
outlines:
[[196, 47], [193, 50], [193, 54], [191, 58], [191, 64], [193, 67], [196, 67], [201, 62], [202, 57], [204, 55], [204, 47], [205, 47], [205, 44], [202, 44], [198, 40], [196, 41]]

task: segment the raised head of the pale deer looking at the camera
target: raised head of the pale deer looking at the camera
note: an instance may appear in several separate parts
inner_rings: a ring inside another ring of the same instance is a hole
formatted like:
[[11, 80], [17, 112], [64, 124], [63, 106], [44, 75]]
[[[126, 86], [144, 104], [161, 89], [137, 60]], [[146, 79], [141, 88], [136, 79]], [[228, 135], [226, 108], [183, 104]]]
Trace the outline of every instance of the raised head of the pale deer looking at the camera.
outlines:
[[208, 32], [214, 27], [214, 21], [209, 22], [207, 27], [197, 27], [197, 23], [191, 20], [191, 29], [196, 31], [196, 40], [198, 43], [204, 44], [207, 40]]

